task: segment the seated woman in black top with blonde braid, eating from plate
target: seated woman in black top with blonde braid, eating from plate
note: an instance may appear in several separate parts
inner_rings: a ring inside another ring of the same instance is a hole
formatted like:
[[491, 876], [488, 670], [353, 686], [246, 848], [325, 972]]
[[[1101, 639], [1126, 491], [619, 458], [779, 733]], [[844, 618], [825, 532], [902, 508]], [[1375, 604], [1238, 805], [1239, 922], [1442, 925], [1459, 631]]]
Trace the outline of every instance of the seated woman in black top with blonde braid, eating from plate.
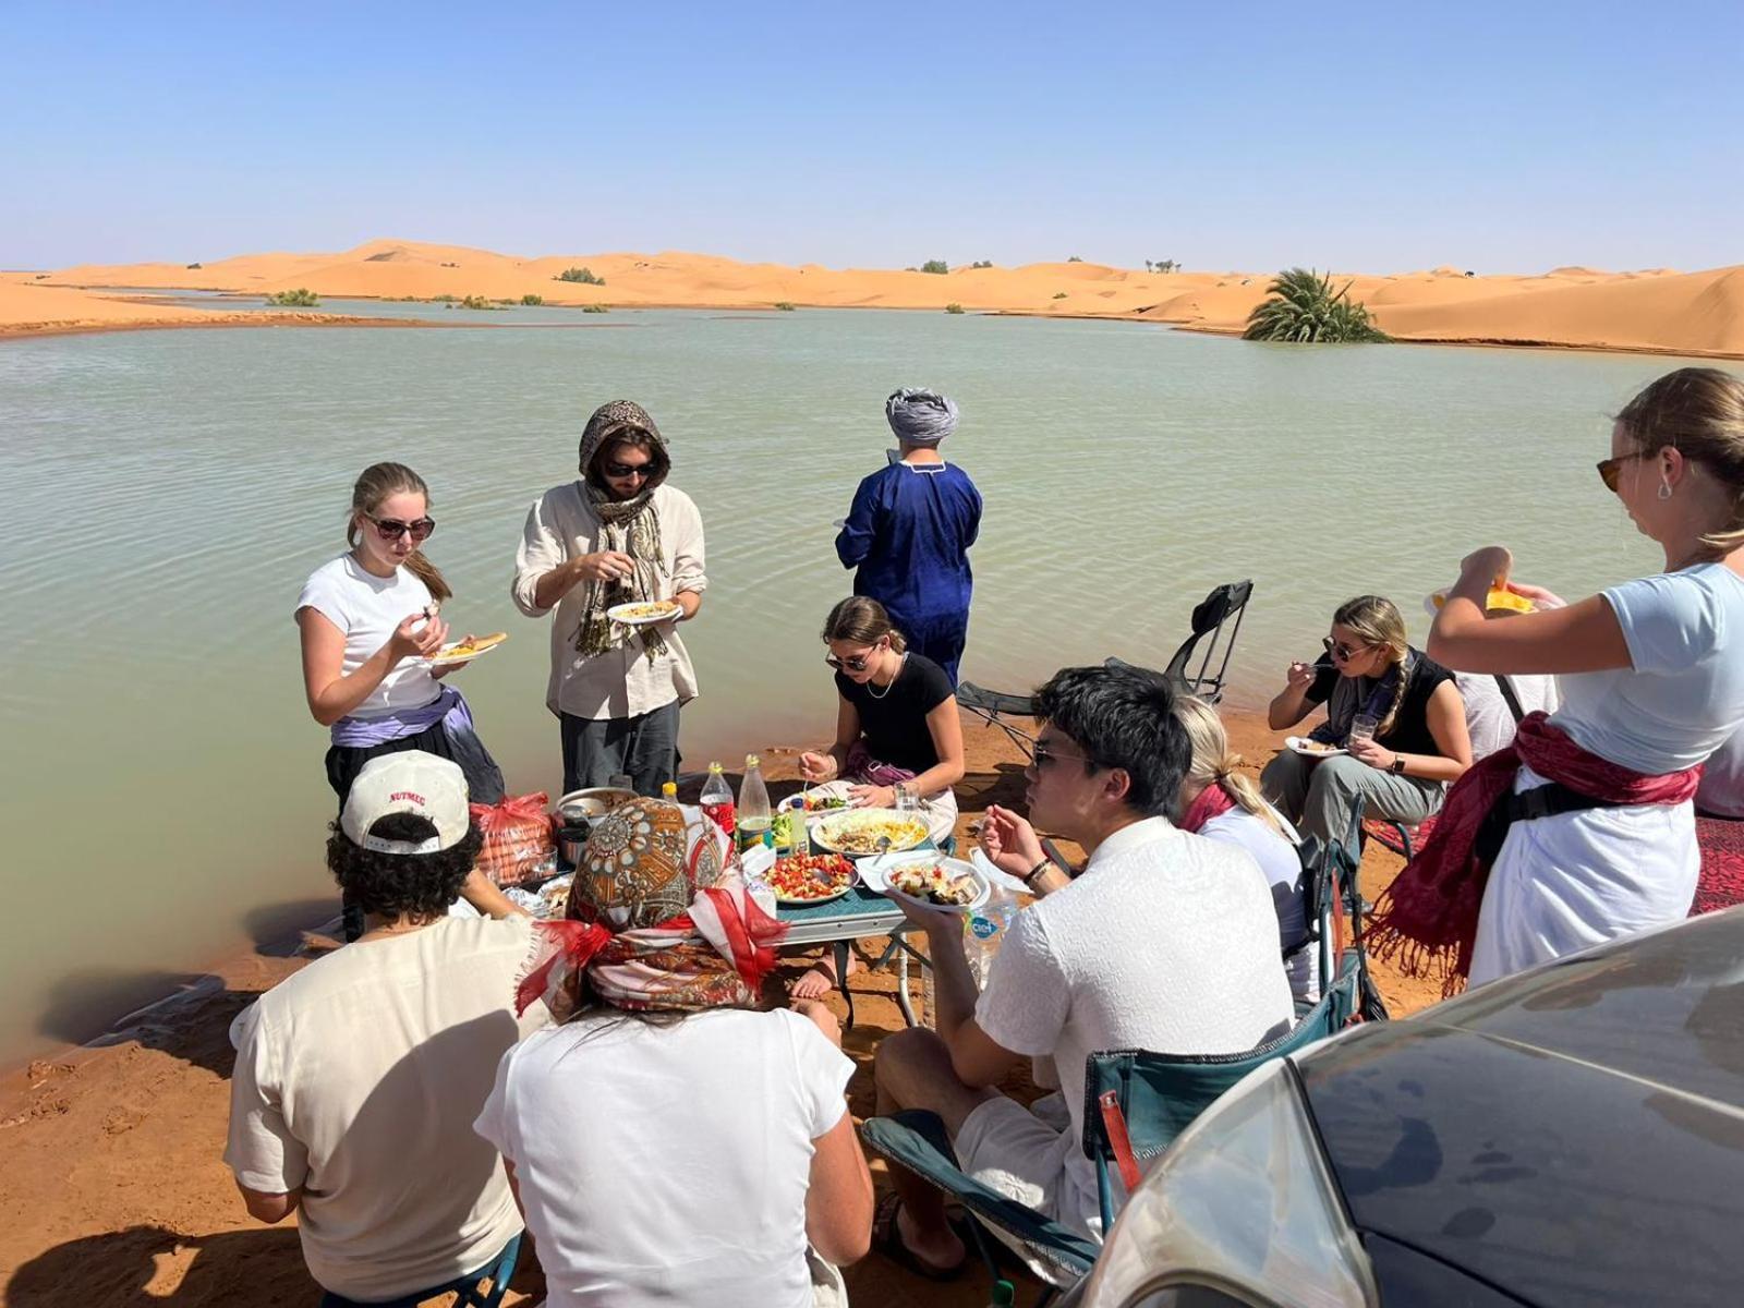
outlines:
[[[1332, 614], [1332, 635], [1315, 663], [1292, 663], [1289, 682], [1266, 712], [1273, 731], [1294, 727], [1318, 706], [1327, 719], [1310, 739], [1348, 753], [1311, 759], [1285, 750], [1259, 788], [1303, 835], [1346, 839], [1360, 795], [1364, 816], [1416, 825], [1441, 809], [1448, 783], [1472, 766], [1465, 703], [1453, 673], [1406, 644], [1392, 600], [1364, 595]], [[1374, 734], [1352, 736], [1357, 717]]]

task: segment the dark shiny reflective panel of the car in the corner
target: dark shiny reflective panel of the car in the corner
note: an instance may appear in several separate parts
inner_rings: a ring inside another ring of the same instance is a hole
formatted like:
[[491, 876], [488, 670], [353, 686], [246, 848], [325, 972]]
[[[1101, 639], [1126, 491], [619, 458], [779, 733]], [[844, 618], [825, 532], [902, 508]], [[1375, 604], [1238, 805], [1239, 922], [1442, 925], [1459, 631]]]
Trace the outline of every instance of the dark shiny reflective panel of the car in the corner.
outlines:
[[1744, 909], [1303, 1055], [1360, 1230], [1535, 1303], [1732, 1303]]

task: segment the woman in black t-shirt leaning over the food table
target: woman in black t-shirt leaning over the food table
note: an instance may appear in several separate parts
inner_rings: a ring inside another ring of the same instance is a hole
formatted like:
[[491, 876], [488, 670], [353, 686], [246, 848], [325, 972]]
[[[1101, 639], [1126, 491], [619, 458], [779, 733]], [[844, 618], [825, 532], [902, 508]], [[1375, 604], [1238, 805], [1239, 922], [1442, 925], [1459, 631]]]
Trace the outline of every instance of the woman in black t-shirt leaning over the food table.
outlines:
[[[828, 781], [856, 807], [895, 807], [896, 787], [923, 800], [935, 841], [957, 823], [963, 780], [963, 720], [957, 696], [931, 659], [909, 652], [902, 631], [877, 600], [855, 595], [823, 623], [825, 661], [835, 668], [835, 743], [827, 753], [799, 755], [799, 774]], [[828, 961], [802, 977], [794, 994], [818, 998], [835, 977]]]

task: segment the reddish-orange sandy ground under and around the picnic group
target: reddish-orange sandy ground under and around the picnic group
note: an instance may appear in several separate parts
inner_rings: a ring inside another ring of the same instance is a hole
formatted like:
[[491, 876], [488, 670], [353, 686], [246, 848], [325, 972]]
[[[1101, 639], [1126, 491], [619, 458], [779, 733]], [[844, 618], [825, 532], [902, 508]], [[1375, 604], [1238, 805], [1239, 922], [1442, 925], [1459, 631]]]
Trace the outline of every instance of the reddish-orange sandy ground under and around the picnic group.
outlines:
[[[1263, 719], [1230, 715], [1233, 745], [1257, 771], [1277, 748]], [[1022, 755], [994, 727], [966, 720], [968, 776], [957, 787], [966, 825], [987, 804], [1022, 804]], [[771, 780], [792, 776], [792, 750], [767, 748]], [[783, 771], [783, 760], [785, 771]], [[780, 795], [794, 788], [776, 785]], [[1067, 853], [1076, 853], [1067, 848]], [[1399, 860], [1371, 846], [1362, 867], [1369, 900], [1397, 874]], [[337, 896], [335, 896], [337, 910]], [[882, 942], [865, 942], [874, 949]], [[215, 964], [185, 998], [119, 1024], [98, 1046], [38, 1059], [0, 1078], [0, 1303], [12, 1308], [183, 1308], [220, 1305], [310, 1305], [317, 1287], [303, 1270], [291, 1223], [260, 1226], [221, 1162], [228, 1121], [230, 1020], [274, 982], [305, 966], [330, 942], [267, 942]], [[806, 966], [785, 968], [766, 996], [781, 1001], [785, 982]], [[919, 1012], [919, 970], [910, 977]], [[1386, 966], [1376, 978], [1393, 1015], [1439, 998], [1439, 985], [1402, 978]], [[882, 1034], [902, 1025], [889, 971], [849, 980], [856, 1024], [844, 1048], [856, 1064], [849, 1107], [856, 1121], [872, 1113], [872, 1055]], [[846, 1018], [841, 996], [832, 996]], [[1006, 1087], [1031, 1099], [1020, 1076]], [[874, 1163], [882, 1189], [884, 1165]], [[1015, 1275], [1015, 1273], [1006, 1273]], [[537, 1268], [523, 1264], [509, 1303], [537, 1298]], [[980, 1266], [961, 1280], [933, 1285], [870, 1254], [848, 1270], [858, 1308], [978, 1308], [989, 1301]], [[1020, 1301], [1034, 1298], [1020, 1289]]]

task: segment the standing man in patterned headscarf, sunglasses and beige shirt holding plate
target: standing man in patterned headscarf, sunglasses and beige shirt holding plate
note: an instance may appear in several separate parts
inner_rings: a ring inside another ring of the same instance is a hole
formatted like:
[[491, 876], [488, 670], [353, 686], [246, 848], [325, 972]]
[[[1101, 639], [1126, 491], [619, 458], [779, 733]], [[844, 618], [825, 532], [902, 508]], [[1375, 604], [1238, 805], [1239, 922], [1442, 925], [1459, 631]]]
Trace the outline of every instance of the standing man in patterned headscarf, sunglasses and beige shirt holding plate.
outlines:
[[654, 419], [614, 399], [588, 419], [581, 478], [527, 514], [513, 596], [528, 617], [556, 610], [546, 706], [565, 792], [628, 776], [657, 795], [678, 776], [678, 708], [696, 698], [696, 670], [677, 623], [696, 616], [708, 577], [703, 518], [666, 485], [670, 471]]

